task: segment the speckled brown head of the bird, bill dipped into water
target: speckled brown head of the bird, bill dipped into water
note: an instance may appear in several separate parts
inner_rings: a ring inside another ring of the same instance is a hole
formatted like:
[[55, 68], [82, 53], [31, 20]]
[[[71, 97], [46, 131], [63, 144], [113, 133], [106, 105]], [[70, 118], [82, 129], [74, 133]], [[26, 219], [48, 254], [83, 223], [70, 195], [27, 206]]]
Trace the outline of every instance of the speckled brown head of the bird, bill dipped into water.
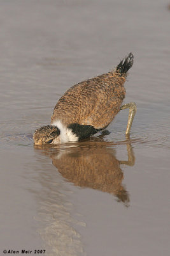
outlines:
[[33, 135], [35, 145], [60, 143], [60, 130], [57, 126], [46, 125], [36, 129]]

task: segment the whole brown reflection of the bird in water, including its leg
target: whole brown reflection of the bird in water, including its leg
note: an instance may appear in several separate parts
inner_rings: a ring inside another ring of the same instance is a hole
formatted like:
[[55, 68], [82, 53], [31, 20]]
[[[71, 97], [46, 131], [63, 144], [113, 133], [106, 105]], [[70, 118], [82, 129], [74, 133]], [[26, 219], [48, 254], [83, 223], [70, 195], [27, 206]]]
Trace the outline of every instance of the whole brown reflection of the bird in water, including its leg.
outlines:
[[69, 182], [81, 188], [98, 189], [113, 194], [118, 202], [129, 206], [129, 193], [122, 185], [124, 172], [121, 164], [133, 166], [135, 162], [131, 140], [122, 142], [127, 147], [127, 160], [115, 157], [114, 144], [102, 138], [90, 138], [79, 143], [57, 145], [53, 148], [34, 146], [52, 158], [53, 165]]

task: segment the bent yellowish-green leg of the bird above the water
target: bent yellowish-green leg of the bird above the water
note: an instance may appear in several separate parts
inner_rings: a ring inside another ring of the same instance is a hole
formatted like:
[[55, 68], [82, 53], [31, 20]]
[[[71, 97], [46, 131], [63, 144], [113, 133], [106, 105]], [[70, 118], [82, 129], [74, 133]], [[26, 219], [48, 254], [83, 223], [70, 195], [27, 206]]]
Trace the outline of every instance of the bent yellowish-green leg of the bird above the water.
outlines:
[[131, 102], [131, 103], [124, 104], [120, 108], [120, 110], [126, 109], [126, 108], [129, 108], [129, 116], [128, 116], [127, 129], [125, 131], [125, 134], [129, 134], [130, 130], [131, 130], [132, 122], [134, 120], [134, 116], [136, 114], [136, 103], [135, 102]]

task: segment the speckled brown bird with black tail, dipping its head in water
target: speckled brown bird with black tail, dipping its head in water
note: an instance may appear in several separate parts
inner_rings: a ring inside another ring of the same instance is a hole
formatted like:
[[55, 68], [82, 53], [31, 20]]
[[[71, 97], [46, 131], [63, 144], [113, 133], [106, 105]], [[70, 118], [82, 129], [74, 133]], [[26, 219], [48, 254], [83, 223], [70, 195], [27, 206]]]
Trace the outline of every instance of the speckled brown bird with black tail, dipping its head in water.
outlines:
[[129, 108], [129, 117], [125, 134], [129, 136], [136, 103], [122, 105], [122, 102], [127, 72], [133, 63], [134, 55], [130, 52], [110, 72], [69, 88], [55, 105], [51, 124], [34, 132], [34, 144], [49, 145], [85, 139], [106, 129], [117, 113], [126, 108]]

